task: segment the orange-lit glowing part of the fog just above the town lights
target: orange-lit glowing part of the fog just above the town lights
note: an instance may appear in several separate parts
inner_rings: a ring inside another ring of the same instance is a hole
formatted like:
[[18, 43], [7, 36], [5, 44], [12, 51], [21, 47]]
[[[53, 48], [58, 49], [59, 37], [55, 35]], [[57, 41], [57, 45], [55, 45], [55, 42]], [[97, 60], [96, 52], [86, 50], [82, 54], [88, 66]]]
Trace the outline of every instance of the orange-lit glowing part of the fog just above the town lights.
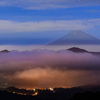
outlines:
[[[91, 77], [89, 76], [91, 75]], [[17, 76], [7, 77], [10, 85], [19, 88], [50, 88], [50, 87], [73, 87], [95, 83], [98, 73], [93, 71], [60, 71], [52, 69], [30, 69], [18, 73]], [[52, 90], [50, 88], [50, 90]]]

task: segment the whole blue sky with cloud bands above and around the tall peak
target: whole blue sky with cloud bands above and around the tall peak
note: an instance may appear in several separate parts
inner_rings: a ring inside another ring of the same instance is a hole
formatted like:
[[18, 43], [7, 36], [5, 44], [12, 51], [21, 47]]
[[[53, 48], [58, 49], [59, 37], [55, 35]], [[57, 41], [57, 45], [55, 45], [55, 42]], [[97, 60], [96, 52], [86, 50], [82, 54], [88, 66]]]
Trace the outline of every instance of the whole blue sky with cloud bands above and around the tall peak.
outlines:
[[71, 30], [100, 39], [100, 0], [0, 0], [0, 45], [48, 44]]

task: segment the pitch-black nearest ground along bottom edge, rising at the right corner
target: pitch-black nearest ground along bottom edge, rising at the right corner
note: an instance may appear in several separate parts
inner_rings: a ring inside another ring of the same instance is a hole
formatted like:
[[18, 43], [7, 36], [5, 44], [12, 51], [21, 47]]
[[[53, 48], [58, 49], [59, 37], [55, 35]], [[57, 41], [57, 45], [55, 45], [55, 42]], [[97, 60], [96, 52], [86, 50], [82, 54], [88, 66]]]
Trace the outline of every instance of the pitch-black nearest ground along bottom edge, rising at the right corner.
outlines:
[[[59, 96], [58, 96], [59, 97]], [[0, 91], [0, 100], [100, 100], [100, 92], [90, 92], [86, 91], [83, 93], [76, 93], [70, 99], [60, 99], [60, 98], [51, 98], [51, 97], [40, 97], [40, 96], [31, 96], [31, 95], [18, 95], [9, 93], [7, 91]]]

